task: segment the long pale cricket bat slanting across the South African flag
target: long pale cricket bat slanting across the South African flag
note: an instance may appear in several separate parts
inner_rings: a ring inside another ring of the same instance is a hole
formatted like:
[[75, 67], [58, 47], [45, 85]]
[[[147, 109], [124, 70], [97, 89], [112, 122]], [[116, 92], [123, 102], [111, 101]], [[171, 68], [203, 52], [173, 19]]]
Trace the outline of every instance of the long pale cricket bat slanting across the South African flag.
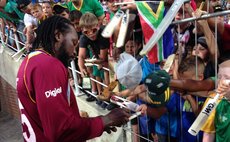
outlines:
[[173, 18], [176, 16], [177, 12], [183, 5], [186, 0], [175, 0], [173, 5], [168, 10], [167, 14], [165, 15], [164, 19], [161, 21], [160, 25], [157, 27], [154, 34], [151, 36], [147, 44], [141, 50], [140, 55], [146, 55], [158, 42], [158, 40], [162, 37], [168, 26], [171, 24]]

